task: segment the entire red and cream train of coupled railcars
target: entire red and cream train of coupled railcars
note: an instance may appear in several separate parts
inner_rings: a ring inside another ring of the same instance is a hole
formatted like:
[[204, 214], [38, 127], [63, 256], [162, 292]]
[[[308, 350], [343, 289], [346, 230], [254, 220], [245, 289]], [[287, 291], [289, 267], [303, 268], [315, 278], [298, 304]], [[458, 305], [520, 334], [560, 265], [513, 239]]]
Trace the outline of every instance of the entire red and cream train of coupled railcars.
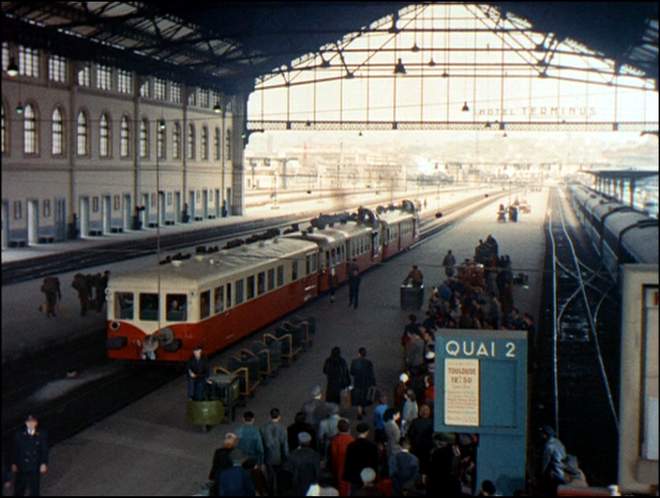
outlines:
[[378, 216], [321, 216], [302, 232], [113, 275], [108, 356], [179, 362], [196, 345], [219, 351], [328, 290], [330, 274], [343, 283], [352, 259], [362, 272], [407, 249], [418, 227], [404, 201]]

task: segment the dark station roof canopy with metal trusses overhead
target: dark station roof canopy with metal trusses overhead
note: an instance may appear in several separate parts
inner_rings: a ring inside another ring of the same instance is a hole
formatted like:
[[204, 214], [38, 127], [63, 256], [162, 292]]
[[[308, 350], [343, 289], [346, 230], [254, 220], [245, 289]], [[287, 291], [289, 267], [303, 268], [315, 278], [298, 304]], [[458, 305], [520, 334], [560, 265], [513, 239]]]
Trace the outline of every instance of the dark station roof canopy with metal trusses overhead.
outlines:
[[[145, 74], [233, 86], [318, 53], [401, 9], [413, 9], [418, 17], [458, 5], [463, 4], [2, 2], [2, 38]], [[656, 2], [492, 2], [471, 8], [552, 34], [548, 44], [573, 40], [618, 68], [629, 65], [657, 81]]]

